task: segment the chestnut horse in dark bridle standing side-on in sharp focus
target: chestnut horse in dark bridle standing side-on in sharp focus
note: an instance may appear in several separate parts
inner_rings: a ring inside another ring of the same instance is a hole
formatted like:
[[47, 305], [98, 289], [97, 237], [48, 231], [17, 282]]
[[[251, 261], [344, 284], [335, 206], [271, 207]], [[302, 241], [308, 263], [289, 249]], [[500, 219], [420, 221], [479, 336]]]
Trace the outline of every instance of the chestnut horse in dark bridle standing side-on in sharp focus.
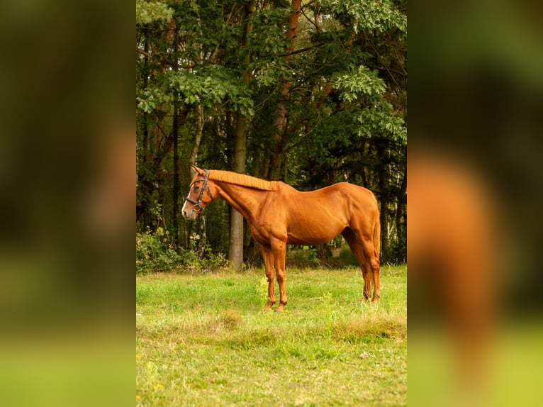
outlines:
[[236, 172], [201, 169], [195, 175], [181, 213], [194, 220], [213, 199], [222, 198], [247, 220], [259, 244], [268, 280], [268, 302], [276, 303], [274, 277], [279, 284], [279, 306], [287, 303], [285, 288], [286, 245], [320, 245], [343, 235], [357, 258], [364, 277], [364, 301], [381, 295], [379, 207], [369, 189], [340, 182], [315, 191], [297, 191], [279, 181], [266, 181]]

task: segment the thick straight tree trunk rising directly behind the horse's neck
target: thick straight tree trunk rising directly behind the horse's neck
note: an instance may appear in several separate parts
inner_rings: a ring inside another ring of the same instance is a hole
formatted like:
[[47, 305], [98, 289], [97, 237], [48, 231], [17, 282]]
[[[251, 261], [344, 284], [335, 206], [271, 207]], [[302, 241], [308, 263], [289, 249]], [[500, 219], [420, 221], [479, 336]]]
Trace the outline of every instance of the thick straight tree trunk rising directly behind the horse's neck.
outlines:
[[[246, 69], [242, 72], [245, 84], [250, 83], [250, 35], [252, 23], [250, 16], [254, 13], [256, 1], [253, 0], [245, 5], [245, 25], [243, 26], [242, 48], [245, 50], [243, 65]], [[237, 112], [234, 145], [234, 171], [240, 174], [245, 172], [245, 156], [247, 153], [247, 118], [240, 111]], [[243, 264], [243, 216], [234, 208], [230, 208], [230, 246], [228, 248], [228, 260], [232, 262], [235, 269], [240, 271]]]

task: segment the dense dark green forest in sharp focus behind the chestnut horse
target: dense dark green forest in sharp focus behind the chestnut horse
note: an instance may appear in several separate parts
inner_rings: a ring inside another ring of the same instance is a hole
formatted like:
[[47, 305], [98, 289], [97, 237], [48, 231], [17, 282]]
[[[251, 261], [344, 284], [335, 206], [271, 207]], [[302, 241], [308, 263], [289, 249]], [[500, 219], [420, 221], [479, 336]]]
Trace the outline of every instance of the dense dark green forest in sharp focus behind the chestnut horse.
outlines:
[[138, 272], [261, 261], [224, 201], [184, 221], [190, 163], [365, 186], [406, 261], [407, 1], [136, 0], [136, 101]]

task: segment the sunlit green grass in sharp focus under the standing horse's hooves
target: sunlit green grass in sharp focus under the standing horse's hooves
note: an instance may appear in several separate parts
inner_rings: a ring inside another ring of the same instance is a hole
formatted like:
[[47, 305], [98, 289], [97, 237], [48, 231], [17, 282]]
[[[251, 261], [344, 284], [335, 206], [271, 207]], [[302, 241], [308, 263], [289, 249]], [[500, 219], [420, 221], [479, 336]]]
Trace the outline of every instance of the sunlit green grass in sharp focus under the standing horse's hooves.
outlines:
[[406, 405], [406, 274], [382, 267], [371, 305], [359, 269], [289, 269], [284, 313], [262, 311], [263, 270], [138, 277], [136, 403]]

